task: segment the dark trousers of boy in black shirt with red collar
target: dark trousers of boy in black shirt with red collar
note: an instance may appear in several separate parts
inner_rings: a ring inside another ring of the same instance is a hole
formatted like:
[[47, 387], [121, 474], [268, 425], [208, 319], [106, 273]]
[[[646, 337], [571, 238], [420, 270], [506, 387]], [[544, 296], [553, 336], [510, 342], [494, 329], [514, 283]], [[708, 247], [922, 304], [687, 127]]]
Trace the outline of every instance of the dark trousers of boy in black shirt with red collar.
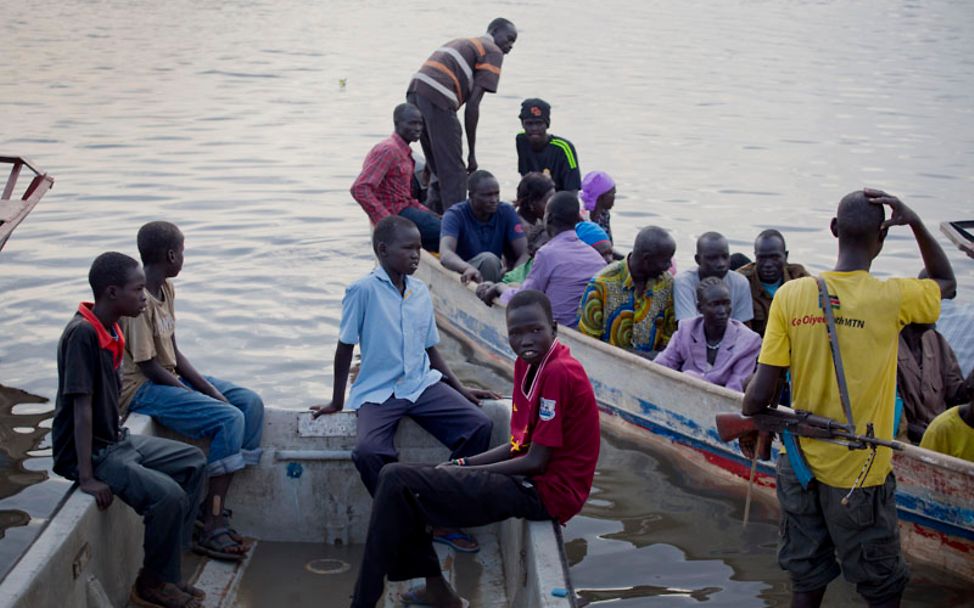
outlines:
[[206, 479], [206, 456], [179, 441], [126, 435], [91, 459], [95, 478], [145, 521], [143, 569], [168, 583], [180, 580]]

